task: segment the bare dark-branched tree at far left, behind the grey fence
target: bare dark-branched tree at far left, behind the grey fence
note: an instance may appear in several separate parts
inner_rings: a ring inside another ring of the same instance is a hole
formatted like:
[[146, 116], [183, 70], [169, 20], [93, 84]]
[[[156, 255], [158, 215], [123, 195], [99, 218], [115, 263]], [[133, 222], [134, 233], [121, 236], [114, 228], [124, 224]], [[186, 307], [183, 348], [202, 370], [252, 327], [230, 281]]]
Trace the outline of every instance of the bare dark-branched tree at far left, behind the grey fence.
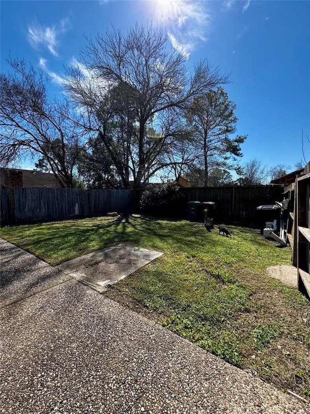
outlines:
[[25, 154], [40, 156], [62, 186], [74, 187], [74, 169], [83, 149], [85, 130], [66, 101], [47, 94], [47, 78], [23, 60], [9, 62], [13, 73], [0, 75], [1, 165]]

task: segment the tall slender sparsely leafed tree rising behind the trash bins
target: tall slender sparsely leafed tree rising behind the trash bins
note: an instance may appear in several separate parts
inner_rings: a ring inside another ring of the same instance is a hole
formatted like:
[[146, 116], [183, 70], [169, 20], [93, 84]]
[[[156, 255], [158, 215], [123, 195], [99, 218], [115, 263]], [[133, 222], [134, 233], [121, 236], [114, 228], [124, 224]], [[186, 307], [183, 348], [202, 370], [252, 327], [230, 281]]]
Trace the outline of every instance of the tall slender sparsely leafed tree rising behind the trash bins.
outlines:
[[232, 156], [242, 156], [240, 144], [247, 135], [229, 137], [236, 131], [235, 108], [221, 87], [195, 98], [189, 108], [188, 121], [196, 129], [196, 149], [202, 158], [205, 187], [212, 170], [233, 169]]

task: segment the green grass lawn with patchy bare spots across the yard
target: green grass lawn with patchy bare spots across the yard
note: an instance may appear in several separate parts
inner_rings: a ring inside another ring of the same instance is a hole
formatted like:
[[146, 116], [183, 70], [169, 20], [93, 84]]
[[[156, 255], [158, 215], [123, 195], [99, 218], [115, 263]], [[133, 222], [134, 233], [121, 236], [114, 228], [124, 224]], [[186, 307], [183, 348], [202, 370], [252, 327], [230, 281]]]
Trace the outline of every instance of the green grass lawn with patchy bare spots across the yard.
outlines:
[[232, 238], [202, 223], [133, 215], [5, 227], [1, 237], [51, 265], [117, 244], [163, 252], [106, 295], [279, 388], [309, 396], [310, 302], [266, 273], [291, 264], [291, 249], [258, 230], [229, 229]]

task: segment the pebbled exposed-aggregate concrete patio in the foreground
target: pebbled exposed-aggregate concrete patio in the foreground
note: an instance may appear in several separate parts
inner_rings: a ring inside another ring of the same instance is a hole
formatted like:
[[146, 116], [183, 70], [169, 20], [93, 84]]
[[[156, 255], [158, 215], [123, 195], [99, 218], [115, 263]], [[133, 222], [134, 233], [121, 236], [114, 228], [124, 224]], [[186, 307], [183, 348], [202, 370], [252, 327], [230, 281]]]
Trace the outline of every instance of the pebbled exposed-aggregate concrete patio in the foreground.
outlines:
[[[16, 277], [15, 262], [22, 278], [15, 249], [2, 250], [2, 271]], [[0, 311], [0, 413], [310, 413], [90, 287], [55, 285], [57, 275]]]

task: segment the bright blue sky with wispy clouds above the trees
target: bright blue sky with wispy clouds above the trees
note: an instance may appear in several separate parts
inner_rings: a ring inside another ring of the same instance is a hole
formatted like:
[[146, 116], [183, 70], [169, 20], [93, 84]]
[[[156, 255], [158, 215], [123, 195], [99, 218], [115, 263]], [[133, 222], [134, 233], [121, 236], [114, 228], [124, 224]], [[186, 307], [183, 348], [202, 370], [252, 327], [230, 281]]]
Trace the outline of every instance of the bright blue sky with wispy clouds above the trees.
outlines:
[[186, 45], [190, 64], [207, 58], [230, 73], [237, 134], [248, 134], [242, 162], [294, 170], [302, 130], [310, 161], [310, 1], [1, 1], [0, 11], [1, 72], [9, 56], [24, 58], [50, 75], [51, 94], [86, 37], [160, 24], [172, 46]]

